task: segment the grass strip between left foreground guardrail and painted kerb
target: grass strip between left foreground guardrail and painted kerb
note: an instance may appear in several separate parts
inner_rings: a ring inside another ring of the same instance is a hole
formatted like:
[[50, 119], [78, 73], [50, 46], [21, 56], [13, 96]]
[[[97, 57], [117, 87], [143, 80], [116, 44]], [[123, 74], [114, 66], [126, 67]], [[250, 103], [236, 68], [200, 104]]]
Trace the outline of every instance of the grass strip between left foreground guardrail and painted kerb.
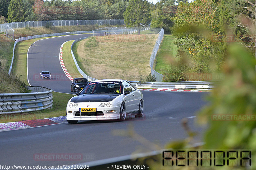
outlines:
[[3, 114], [0, 115], [0, 123], [65, 116], [68, 100], [74, 95], [58, 92], [52, 92], [52, 95], [53, 106], [51, 109], [44, 109], [41, 111], [28, 112], [23, 114]]

